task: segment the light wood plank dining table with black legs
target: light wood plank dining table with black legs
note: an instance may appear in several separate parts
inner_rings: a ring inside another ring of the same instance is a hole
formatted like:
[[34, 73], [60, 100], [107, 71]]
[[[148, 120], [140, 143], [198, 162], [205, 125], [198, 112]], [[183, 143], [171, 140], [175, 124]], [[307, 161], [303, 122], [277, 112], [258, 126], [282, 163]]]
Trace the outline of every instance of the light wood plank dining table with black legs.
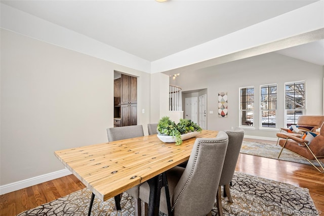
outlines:
[[144, 182], [150, 185], [148, 215], [156, 215], [160, 190], [168, 190], [166, 171], [189, 159], [196, 138], [214, 138], [217, 134], [218, 131], [202, 130], [179, 146], [161, 141], [156, 134], [145, 135], [54, 154], [92, 192], [88, 215], [94, 196], [106, 201]]

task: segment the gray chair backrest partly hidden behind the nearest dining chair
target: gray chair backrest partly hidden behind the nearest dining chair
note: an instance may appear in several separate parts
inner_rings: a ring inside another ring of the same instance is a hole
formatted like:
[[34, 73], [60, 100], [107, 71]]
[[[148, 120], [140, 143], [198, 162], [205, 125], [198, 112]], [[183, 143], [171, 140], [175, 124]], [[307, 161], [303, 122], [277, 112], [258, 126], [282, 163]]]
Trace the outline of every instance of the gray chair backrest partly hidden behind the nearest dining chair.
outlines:
[[244, 130], [238, 127], [225, 132], [228, 135], [228, 145], [219, 185], [226, 185], [232, 181], [244, 137]]

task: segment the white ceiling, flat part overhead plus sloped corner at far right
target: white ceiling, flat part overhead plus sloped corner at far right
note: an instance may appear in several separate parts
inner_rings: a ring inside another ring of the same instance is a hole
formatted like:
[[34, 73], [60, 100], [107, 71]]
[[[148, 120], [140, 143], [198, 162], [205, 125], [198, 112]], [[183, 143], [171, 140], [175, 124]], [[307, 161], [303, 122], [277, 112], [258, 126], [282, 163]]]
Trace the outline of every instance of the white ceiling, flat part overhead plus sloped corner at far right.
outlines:
[[[316, 1], [1, 1], [148, 61]], [[324, 40], [278, 51], [324, 65]]]

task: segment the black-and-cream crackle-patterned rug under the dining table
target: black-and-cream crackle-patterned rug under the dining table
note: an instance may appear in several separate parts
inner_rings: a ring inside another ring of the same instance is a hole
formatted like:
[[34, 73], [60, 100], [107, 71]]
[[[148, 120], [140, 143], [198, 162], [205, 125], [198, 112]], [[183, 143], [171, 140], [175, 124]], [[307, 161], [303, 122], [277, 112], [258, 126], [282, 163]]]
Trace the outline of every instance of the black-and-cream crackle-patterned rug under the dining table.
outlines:
[[[222, 199], [224, 215], [318, 215], [306, 188], [235, 172], [230, 191], [233, 203]], [[87, 215], [90, 197], [91, 192], [83, 189], [18, 215]], [[91, 215], [134, 215], [134, 199], [127, 193], [120, 204], [122, 210], [116, 211], [113, 198], [95, 198]], [[212, 215], [218, 215], [216, 203]]]

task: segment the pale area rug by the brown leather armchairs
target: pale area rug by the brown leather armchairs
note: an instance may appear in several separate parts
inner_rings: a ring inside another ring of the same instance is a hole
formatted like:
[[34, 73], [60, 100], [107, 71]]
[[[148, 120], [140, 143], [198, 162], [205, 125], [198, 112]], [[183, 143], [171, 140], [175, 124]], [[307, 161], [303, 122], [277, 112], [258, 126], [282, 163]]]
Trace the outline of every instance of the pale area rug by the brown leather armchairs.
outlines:
[[[284, 149], [278, 158], [280, 150], [281, 146], [279, 145], [244, 140], [240, 153], [311, 165], [306, 159], [299, 157], [287, 149]], [[316, 161], [313, 162], [316, 166], [319, 166]], [[321, 162], [321, 164], [324, 166], [324, 163]]]

